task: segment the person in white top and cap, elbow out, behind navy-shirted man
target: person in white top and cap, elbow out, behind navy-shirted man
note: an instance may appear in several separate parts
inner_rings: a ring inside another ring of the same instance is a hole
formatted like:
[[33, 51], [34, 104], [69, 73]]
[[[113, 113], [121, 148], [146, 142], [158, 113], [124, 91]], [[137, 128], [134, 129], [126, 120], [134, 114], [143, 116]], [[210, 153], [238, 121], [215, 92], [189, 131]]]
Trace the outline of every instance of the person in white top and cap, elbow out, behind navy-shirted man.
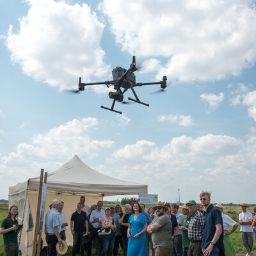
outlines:
[[[219, 252], [219, 256], [235, 256], [236, 255], [236, 249], [234, 247], [234, 244], [232, 243], [232, 240], [230, 238], [230, 235], [237, 229], [238, 224], [236, 221], [232, 220], [230, 216], [223, 213], [223, 206], [222, 204], [215, 205], [217, 209], [221, 212], [221, 217], [223, 220], [223, 230], [224, 230], [224, 237], [223, 237], [223, 243], [225, 250], [221, 249]], [[229, 231], [229, 228], [232, 227], [232, 230]]]

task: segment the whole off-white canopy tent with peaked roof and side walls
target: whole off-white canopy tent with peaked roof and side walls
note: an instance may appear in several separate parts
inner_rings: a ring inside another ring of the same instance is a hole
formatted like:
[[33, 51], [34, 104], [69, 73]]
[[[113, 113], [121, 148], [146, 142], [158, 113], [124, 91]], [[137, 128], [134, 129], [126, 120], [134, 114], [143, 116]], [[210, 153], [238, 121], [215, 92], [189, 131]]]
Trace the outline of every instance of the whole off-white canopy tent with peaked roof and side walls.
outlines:
[[[36, 177], [9, 188], [9, 205], [17, 205], [19, 216], [24, 219], [24, 228], [20, 239], [22, 255], [32, 255], [33, 230], [26, 231], [29, 214], [28, 202], [35, 221], [39, 183], [40, 177]], [[86, 205], [92, 205], [97, 204], [98, 200], [102, 200], [103, 196], [138, 195], [139, 193], [147, 194], [147, 185], [109, 177], [93, 170], [84, 164], [78, 156], [74, 156], [58, 170], [48, 173], [45, 209], [55, 198], [63, 201], [63, 212], [65, 212], [66, 220], [69, 223], [81, 195], [86, 197]], [[69, 226], [66, 234], [67, 243], [72, 244]], [[46, 244], [44, 243], [44, 245]]]

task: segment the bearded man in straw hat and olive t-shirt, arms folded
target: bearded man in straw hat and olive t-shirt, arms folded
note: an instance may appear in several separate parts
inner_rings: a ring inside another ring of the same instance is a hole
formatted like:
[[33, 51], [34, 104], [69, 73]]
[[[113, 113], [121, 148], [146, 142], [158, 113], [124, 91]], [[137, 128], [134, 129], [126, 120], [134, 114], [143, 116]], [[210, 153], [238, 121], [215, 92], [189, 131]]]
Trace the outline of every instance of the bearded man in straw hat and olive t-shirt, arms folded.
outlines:
[[168, 207], [158, 202], [155, 207], [157, 217], [148, 225], [147, 232], [152, 235], [156, 256], [169, 256], [172, 252], [172, 222], [166, 214]]

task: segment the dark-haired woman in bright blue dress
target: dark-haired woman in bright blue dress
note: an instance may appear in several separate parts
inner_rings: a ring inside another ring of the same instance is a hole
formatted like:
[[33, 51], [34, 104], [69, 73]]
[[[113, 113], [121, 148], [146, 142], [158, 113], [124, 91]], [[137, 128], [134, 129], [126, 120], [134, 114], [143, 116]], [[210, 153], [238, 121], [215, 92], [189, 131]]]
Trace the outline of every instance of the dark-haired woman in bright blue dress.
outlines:
[[127, 256], [147, 256], [146, 234], [148, 220], [141, 214], [141, 207], [135, 203], [132, 207], [133, 214], [129, 218], [127, 230], [128, 248]]

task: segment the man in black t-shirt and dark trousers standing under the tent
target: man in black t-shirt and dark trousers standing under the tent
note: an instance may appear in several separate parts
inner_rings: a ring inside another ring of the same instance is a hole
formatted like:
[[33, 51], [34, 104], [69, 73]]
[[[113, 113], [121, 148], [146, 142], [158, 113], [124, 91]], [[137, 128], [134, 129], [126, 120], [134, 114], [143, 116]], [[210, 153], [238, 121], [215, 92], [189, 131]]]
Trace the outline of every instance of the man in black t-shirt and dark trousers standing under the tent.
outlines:
[[[77, 211], [71, 216], [70, 229], [73, 235], [73, 250], [72, 256], [77, 253], [77, 244], [81, 244], [81, 256], [84, 256], [84, 234], [88, 234], [88, 221], [86, 212], [82, 211], [83, 205], [79, 202], [77, 204]], [[74, 228], [73, 228], [74, 226]], [[79, 249], [78, 249], [79, 251]]]

